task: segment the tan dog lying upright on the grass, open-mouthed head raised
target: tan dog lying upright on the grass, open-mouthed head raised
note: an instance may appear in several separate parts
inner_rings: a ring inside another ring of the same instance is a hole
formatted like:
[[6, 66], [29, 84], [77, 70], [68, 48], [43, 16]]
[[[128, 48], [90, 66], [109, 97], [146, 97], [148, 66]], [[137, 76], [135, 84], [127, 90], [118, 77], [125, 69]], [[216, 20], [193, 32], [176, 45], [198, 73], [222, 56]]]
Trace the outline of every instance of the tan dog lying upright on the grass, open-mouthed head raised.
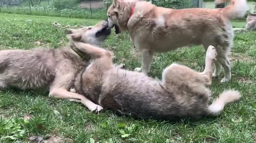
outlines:
[[[93, 27], [67, 29], [67, 37], [72, 37], [70, 43], [59, 49], [33, 50], [1, 50], [0, 51], [0, 89], [49, 89], [49, 97], [81, 102], [91, 111], [98, 106], [85, 96], [69, 92], [74, 74], [90, 59], [73, 44], [73, 40], [100, 46], [111, 34], [107, 29], [108, 21], [101, 21]], [[85, 60], [85, 61], [84, 61]]]

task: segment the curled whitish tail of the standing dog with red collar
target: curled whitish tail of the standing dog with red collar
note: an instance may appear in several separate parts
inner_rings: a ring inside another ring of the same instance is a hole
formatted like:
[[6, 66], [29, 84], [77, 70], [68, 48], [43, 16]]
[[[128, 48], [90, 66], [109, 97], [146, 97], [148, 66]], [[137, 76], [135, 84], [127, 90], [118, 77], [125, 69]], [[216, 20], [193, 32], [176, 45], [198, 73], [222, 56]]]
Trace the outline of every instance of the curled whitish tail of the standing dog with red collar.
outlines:
[[230, 5], [222, 9], [222, 15], [229, 19], [243, 17], [247, 11], [246, 0], [216, 0], [216, 4], [230, 2]]

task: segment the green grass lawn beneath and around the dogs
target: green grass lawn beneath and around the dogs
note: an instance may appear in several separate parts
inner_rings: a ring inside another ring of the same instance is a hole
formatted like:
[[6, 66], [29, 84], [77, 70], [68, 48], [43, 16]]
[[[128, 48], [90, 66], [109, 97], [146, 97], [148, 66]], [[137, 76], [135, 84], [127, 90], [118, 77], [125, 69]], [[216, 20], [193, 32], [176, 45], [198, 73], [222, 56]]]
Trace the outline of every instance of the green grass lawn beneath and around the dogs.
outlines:
[[[61, 25], [93, 25], [99, 20], [0, 14], [1, 49], [31, 49], [36, 46], [57, 48], [68, 42]], [[243, 28], [244, 21], [234, 21]], [[0, 90], [0, 142], [28, 142], [29, 138], [54, 139], [62, 142], [256, 142], [256, 32], [236, 33], [230, 55], [232, 80], [220, 83], [224, 76], [213, 80], [212, 97], [225, 89], [239, 90], [239, 102], [227, 105], [216, 118], [174, 123], [142, 121], [117, 116], [112, 111], [94, 113], [83, 105], [48, 97], [46, 91]], [[115, 52], [115, 63], [126, 69], [140, 67], [140, 53], [129, 41], [129, 35], [112, 35], [103, 44]], [[192, 69], [204, 69], [205, 51], [201, 46], [180, 48], [155, 54], [151, 77], [161, 79], [163, 69], [173, 62]], [[22, 119], [19, 119], [22, 118]], [[23, 120], [25, 118], [25, 120]], [[123, 135], [125, 134], [125, 135]], [[123, 135], [123, 136], [122, 136]]]

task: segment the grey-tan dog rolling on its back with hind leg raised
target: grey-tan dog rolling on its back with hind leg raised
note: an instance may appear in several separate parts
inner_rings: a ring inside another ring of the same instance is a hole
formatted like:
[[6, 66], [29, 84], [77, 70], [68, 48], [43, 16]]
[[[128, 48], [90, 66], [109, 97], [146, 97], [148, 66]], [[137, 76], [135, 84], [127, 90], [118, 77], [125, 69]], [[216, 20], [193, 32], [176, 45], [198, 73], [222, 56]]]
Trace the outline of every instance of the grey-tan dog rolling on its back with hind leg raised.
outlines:
[[225, 91], [209, 105], [216, 49], [209, 46], [205, 69], [199, 73], [186, 66], [171, 64], [162, 81], [137, 71], [127, 71], [112, 63], [113, 53], [90, 44], [74, 42], [91, 57], [88, 67], [77, 72], [73, 92], [85, 95], [103, 108], [142, 119], [199, 119], [218, 115], [228, 102], [238, 100], [238, 91]]

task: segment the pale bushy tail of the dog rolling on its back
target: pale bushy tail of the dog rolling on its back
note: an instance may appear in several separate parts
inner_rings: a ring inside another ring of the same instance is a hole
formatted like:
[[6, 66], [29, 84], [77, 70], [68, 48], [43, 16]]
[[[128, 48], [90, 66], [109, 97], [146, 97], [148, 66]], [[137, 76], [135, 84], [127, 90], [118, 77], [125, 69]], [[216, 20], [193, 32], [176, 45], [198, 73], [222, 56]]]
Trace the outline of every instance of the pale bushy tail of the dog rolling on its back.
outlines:
[[224, 91], [219, 95], [217, 99], [213, 101], [213, 103], [208, 107], [210, 115], [217, 116], [223, 110], [225, 104], [233, 101], [237, 101], [240, 99], [239, 91], [229, 90]]

